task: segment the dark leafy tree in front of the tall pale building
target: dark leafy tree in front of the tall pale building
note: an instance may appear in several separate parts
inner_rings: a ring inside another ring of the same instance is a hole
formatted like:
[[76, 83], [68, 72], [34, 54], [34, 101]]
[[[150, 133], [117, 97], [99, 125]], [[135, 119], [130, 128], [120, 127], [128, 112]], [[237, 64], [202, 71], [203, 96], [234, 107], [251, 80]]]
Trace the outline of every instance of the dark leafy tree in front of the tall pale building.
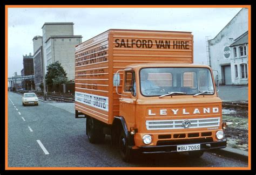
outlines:
[[45, 80], [46, 85], [48, 85], [50, 88], [55, 85], [59, 86], [68, 81], [68, 78], [66, 77], [66, 72], [62, 65], [59, 63], [59, 61], [53, 62], [46, 68], [47, 73], [45, 75]]

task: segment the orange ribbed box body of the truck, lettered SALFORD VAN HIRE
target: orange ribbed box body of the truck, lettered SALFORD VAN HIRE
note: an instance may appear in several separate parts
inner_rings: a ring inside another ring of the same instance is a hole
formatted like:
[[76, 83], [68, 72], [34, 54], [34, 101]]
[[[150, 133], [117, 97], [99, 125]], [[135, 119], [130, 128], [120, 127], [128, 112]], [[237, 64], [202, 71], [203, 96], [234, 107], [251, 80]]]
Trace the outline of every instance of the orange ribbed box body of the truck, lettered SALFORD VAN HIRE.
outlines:
[[76, 110], [111, 124], [119, 116], [114, 73], [131, 64], [192, 63], [193, 36], [191, 32], [108, 30], [79, 44], [75, 59]]

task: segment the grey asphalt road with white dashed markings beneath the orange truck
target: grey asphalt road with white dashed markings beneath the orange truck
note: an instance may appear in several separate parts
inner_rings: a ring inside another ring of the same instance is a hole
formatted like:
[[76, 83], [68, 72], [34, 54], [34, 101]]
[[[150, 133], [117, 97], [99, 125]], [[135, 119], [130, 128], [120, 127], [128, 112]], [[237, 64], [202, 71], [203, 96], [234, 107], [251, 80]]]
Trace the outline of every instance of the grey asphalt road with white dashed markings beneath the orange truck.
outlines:
[[193, 159], [187, 153], [140, 155], [125, 163], [107, 136], [90, 144], [85, 118], [49, 103], [22, 106], [21, 95], [8, 92], [8, 167], [247, 167], [238, 159], [205, 152]]

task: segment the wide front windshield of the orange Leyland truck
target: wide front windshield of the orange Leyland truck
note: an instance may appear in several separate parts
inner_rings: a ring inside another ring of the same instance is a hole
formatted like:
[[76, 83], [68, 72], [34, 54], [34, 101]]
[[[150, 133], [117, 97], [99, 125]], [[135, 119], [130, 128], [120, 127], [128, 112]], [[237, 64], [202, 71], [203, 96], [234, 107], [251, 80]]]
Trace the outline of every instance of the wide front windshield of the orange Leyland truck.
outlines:
[[214, 87], [207, 68], [143, 68], [140, 92], [144, 96], [213, 95]]

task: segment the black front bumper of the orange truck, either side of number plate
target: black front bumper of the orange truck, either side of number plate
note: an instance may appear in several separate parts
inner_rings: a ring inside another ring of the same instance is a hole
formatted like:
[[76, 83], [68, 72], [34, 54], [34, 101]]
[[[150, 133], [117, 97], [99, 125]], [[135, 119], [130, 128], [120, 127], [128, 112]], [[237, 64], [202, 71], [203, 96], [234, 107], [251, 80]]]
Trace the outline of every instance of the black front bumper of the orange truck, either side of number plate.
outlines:
[[[204, 142], [204, 143], [196, 143], [196, 144], [200, 144], [201, 151], [207, 151], [211, 149], [226, 148], [227, 140], [223, 139], [217, 142]], [[182, 145], [182, 144], [179, 144], [179, 145]], [[178, 152], [177, 145], [141, 146], [139, 148], [139, 151], [142, 153]]]

